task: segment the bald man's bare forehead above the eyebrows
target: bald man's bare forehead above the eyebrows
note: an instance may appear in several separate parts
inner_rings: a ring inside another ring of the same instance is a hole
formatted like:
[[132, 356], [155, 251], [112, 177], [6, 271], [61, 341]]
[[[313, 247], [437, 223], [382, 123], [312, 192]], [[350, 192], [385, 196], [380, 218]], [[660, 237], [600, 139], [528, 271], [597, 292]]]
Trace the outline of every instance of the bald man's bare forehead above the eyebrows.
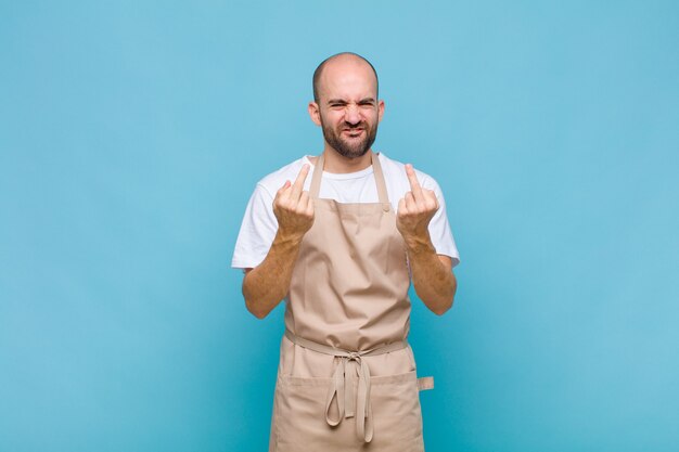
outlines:
[[321, 100], [377, 98], [377, 79], [370, 65], [350, 56], [329, 61], [319, 79]]

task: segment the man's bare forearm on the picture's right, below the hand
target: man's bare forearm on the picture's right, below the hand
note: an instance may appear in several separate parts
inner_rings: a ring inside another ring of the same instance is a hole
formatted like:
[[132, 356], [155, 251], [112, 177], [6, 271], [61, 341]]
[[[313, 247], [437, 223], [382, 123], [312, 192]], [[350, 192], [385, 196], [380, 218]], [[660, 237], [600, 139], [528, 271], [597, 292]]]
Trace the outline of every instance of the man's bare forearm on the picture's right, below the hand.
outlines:
[[406, 241], [412, 284], [418, 297], [434, 313], [441, 315], [452, 306], [457, 280], [447, 257], [439, 257], [428, 236]]

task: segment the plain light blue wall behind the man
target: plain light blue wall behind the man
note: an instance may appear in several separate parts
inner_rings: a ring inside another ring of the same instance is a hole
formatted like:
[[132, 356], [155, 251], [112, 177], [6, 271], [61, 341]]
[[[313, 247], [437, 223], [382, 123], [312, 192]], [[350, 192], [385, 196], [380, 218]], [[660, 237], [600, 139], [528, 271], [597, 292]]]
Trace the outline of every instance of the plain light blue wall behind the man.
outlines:
[[231, 253], [345, 50], [462, 257], [427, 451], [679, 450], [678, 42], [674, 1], [1, 1], [0, 451], [266, 450], [283, 311]]

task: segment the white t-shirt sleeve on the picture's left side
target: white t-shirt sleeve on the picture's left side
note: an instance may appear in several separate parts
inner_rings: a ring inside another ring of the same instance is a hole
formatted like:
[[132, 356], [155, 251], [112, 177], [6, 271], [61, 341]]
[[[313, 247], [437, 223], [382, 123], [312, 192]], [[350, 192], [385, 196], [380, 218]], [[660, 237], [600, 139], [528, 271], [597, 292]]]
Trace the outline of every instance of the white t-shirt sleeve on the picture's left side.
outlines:
[[273, 215], [273, 195], [258, 183], [245, 208], [231, 267], [253, 269], [260, 264], [271, 248], [276, 231], [278, 221]]

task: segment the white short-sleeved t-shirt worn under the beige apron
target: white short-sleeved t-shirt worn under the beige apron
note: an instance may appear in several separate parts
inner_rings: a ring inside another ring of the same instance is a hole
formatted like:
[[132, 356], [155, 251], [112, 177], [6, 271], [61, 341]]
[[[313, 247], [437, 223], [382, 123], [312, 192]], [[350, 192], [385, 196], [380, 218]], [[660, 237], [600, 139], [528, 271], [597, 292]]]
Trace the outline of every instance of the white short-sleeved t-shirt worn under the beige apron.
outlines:
[[[380, 153], [379, 158], [382, 164], [382, 172], [384, 173], [389, 202], [394, 207], [394, 211], [397, 211], [398, 202], [410, 191], [406, 168], [403, 164], [392, 160], [384, 153]], [[311, 166], [304, 186], [304, 190], [309, 190], [313, 165], [307, 156], [266, 176], [257, 183], [245, 209], [241, 231], [235, 242], [231, 267], [252, 269], [265, 259], [278, 231], [278, 221], [273, 215], [276, 192], [283, 186], [285, 181], [294, 182], [304, 164]], [[460, 256], [448, 224], [444, 195], [438, 183], [432, 177], [417, 169], [415, 175], [420, 185], [424, 189], [433, 190], [438, 198], [439, 208], [430, 222], [432, 244], [436, 249], [436, 254], [449, 256], [454, 267], [460, 262]], [[319, 197], [335, 199], [338, 203], [377, 203], [377, 188], [372, 166], [361, 171], [342, 175], [323, 171]]]

